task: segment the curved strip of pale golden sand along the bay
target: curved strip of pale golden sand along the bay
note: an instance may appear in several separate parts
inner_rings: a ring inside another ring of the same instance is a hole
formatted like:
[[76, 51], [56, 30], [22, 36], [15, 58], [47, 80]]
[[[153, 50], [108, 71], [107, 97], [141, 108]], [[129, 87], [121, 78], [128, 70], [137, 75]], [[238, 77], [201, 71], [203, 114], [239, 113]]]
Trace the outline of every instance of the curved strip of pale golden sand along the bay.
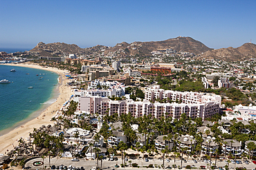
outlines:
[[19, 63], [19, 64], [4, 64], [4, 65], [13, 65], [13, 66], [20, 66], [20, 67], [30, 67], [30, 68], [36, 68], [41, 70], [47, 70], [50, 72], [55, 72], [62, 76], [62, 82], [59, 87], [60, 96], [57, 98], [55, 103], [53, 103], [51, 106], [49, 106], [47, 109], [42, 111], [42, 113], [35, 119], [28, 121], [24, 125], [21, 125], [20, 127], [17, 127], [16, 129], [13, 129], [12, 131], [8, 132], [8, 134], [5, 134], [3, 136], [0, 136], [0, 153], [7, 153], [7, 150], [12, 150], [13, 147], [18, 145], [17, 140], [19, 138], [28, 138], [29, 133], [33, 132], [34, 128], [39, 128], [42, 125], [53, 125], [53, 121], [51, 121], [51, 118], [55, 115], [53, 111], [56, 111], [58, 109], [61, 109], [62, 105], [70, 98], [72, 95], [71, 89], [68, 86], [64, 86], [66, 83], [68, 83], [70, 80], [66, 79], [64, 73], [68, 72], [65, 70], [58, 70], [55, 67], [41, 67], [39, 65], [36, 65], [34, 63]]

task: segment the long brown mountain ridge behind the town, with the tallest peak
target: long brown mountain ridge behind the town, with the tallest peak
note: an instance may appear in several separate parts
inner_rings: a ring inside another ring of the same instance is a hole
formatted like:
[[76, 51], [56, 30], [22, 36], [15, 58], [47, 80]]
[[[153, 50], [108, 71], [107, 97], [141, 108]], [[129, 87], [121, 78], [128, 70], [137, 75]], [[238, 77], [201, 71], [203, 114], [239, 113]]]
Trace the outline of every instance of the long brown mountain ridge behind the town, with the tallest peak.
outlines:
[[208, 50], [213, 50], [205, 46], [200, 41], [196, 41], [190, 37], [179, 36], [174, 39], [167, 39], [165, 41], [150, 41], [150, 42], [134, 42], [134, 43], [118, 43], [114, 47], [107, 47], [104, 45], [96, 45], [94, 47], [80, 48], [75, 44], [66, 43], [38, 43], [30, 52], [35, 52], [40, 56], [62, 56], [65, 54], [103, 54], [118, 56], [129, 55], [151, 55], [152, 51], [166, 50], [172, 48], [179, 52], [190, 52], [194, 54], [201, 54]]

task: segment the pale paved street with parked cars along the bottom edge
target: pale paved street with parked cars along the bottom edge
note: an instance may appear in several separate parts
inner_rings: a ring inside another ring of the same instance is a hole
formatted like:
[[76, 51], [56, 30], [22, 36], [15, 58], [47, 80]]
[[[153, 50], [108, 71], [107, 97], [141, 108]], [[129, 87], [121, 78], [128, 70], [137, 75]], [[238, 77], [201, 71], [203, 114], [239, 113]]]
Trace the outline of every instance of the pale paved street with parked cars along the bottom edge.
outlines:
[[[26, 167], [30, 167], [30, 169], [42, 169], [43, 166], [33, 166], [33, 162], [35, 161], [42, 161], [42, 158], [36, 158], [34, 160], [30, 160], [26, 163]], [[155, 160], [152, 160], [152, 159], [149, 159], [149, 162], [145, 162], [145, 160], [143, 159], [129, 159], [131, 160], [131, 163], [137, 163], [140, 168], [142, 168], [143, 166], [148, 166], [149, 164], [158, 164], [161, 166], [161, 164], [163, 164], [163, 160], [158, 160], [158, 159], [155, 159]], [[215, 161], [212, 160], [212, 163], [214, 163]], [[129, 162], [126, 161], [127, 165], [129, 166]], [[55, 166], [60, 166], [60, 165], [64, 165], [64, 166], [69, 166], [69, 165], [72, 165], [73, 167], [84, 167], [84, 169], [86, 170], [89, 170], [91, 169], [91, 167], [95, 167], [97, 166], [97, 160], [85, 160], [85, 159], [80, 159], [79, 162], [73, 162], [71, 161], [71, 159], [64, 159], [64, 158], [52, 158], [51, 159], [51, 165], [55, 164]], [[115, 168], [115, 165], [118, 164], [122, 164], [122, 160], [121, 158], [118, 158], [118, 160], [116, 161], [109, 161], [108, 159], [104, 159], [102, 161], [102, 169], [116, 169]], [[170, 167], [172, 167], [172, 164], [174, 164], [174, 159], [172, 158], [172, 160], [170, 160], [170, 162], [166, 162], [165, 161], [165, 167], [167, 167], [168, 165], [170, 165]], [[181, 160], [180, 159], [176, 159], [176, 162], [175, 164], [177, 166], [181, 165]], [[188, 162], [183, 162], [183, 167], [185, 167], [186, 165], [190, 165], [190, 166], [193, 166], [193, 167], [200, 167], [200, 166], [205, 166], [205, 168], [208, 167], [208, 163], [205, 163], [205, 162], [198, 162], [198, 163], [194, 163], [192, 160], [189, 160]], [[220, 161], [217, 161], [217, 167], [224, 167], [226, 165], [225, 162], [220, 162]], [[49, 166], [49, 163], [48, 163], [48, 158], [44, 159], [44, 166]], [[245, 164], [243, 162], [243, 164], [232, 164], [230, 163], [229, 164], [229, 167], [230, 169], [234, 169], [234, 167], [246, 167], [246, 169], [255, 169], [256, 168], [256, 164], [253, 164], [253, 162], [250, 162], [250, 164]], [[100, 160], [99, 160], [99, 167], [100, 167]]]

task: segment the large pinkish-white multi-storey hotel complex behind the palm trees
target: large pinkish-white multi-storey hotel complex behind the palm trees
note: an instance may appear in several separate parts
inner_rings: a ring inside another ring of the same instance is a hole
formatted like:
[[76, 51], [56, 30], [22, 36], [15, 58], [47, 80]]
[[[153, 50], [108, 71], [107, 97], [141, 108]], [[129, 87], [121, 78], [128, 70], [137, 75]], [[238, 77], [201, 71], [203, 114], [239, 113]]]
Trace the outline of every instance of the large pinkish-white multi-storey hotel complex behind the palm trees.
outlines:
[[[112, 87], [112, 86], [111, 86]], [[117, 89], [115, 88], [117, 87]], [[134, 117], [148, 116], [151, 114], [155, 118], [161, 118], [162, 115], [171, 116], [172, 118], [180, 118], [181, 114], [185, 113], [188, 117], [198, 118], [203, 120], [219, 112], [221, 104], [221, 96], [215, 94], [202, 94], [198, 92], [174, 92], [171, 90], [159, 89], [154, 86], [147, 89], [145, 100], [110, 100], [106, 96], [123, 96], [125, 89], [122, 92], [118, 91], [122, 87], [113, 86], [109, 91], [100, 91], [100, 89], [87, 90], [83, 92], [75, 92], [75, 100], [78, 101], [78, 110], [89, 111], [91, 114], [131, 114]], [[113, 92], [113, 93], [112, 93]], [[104, 97], [103, 97], [104, 96]], [[151, 96], [151, 98], [149, 98]], [[151, 103], [155, 96], [157, 98], [171, 98], [178, 100], [179, 103]]]

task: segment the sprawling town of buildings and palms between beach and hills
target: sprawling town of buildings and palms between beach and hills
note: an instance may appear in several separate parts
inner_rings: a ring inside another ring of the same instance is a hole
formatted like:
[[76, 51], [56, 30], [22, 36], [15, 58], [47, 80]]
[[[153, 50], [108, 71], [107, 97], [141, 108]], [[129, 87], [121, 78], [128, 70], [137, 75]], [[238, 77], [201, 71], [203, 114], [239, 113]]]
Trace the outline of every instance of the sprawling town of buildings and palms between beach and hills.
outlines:
[[105, 51], [0, 52], [1, 63], [67, 70], [73, 93], [51, 125], [0, 157], [4, 169], [255, 169], [256, 59]]

